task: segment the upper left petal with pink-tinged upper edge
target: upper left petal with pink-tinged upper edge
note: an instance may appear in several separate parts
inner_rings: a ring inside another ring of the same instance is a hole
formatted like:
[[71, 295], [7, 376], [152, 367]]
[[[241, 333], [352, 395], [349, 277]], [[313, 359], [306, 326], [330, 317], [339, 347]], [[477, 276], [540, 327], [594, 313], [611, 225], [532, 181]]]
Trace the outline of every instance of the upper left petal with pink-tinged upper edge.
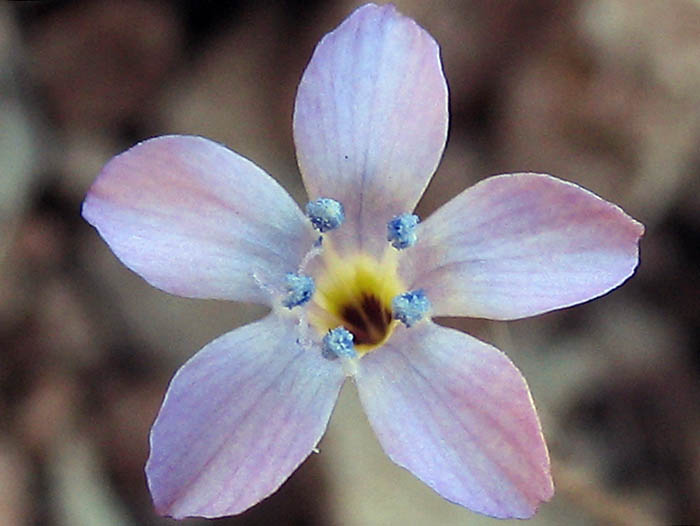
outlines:
[[126, 266], [167, 292], [269, 303], [314, 234], [270, 176], [202, 137], [139, 143], [102, 170], [83, 203]]

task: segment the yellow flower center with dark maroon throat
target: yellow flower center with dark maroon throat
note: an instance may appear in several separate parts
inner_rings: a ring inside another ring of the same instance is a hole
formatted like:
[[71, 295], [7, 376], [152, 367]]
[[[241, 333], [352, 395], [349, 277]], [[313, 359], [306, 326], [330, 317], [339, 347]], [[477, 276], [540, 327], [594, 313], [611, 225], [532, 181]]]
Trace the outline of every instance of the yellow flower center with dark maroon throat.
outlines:
[[406, 290], [398, 275], [398, 255], [387, 249], [381, 260], [367, 254], [340, 257], [324, 246], [322, 269], [309, 321], [320, 334], [343, 326], [354, 336], [362, 356], [380, 347], [398, 323], [392, 319], [391, 301]]

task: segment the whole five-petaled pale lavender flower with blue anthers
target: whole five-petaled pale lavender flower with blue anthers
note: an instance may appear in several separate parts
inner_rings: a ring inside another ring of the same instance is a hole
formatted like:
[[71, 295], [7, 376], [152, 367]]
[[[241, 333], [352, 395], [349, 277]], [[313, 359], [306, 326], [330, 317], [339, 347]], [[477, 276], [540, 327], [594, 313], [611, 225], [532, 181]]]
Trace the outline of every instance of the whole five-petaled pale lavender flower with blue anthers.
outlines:
[[634, 272], [643, 227], [538, 174], [487, 178], [419, 222], [447, 120], [436, 42], [369, 4], [299, 84], [306, 215], [201, 137], [150, 139], [104, 167], [83, 215], [125, 265], [173, 294], [271, 309], [173, 378], [146, 465], [159, 512], [236, 514], [270, 495], [315, 449], [347, 377], [386, 453], [446, 499], [524, 518], [552, 496], [520, 372], [431, 317], [509, 320], [600, 296]]

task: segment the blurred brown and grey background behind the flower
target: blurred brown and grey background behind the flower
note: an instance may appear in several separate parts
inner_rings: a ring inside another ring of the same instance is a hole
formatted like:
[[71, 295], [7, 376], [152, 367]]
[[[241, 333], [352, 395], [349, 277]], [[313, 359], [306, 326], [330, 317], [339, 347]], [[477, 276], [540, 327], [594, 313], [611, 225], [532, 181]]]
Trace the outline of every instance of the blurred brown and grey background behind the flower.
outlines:
[[[647, 227], [637, 275], [602, 299], [507, 324], [445, 321], [530, 382], [557, 486], [531, 524], [699, 523], [700, 2], [396, 3], [440, 42], [451, 90], [421, 215], [487, 175], [539, 171]], [[167, 383], [262, 311], [150, 288], [81, 219], [81, 200], [111, 156], [192, 133], [303, 201], [296, 84], [357, 5], [0, 4], [0, 524], [174, 524], [153, 513], [143, 475]], [[213, 522], [498, 522], [391, 464], [352, 385], [320, 449], [277, 494]]]

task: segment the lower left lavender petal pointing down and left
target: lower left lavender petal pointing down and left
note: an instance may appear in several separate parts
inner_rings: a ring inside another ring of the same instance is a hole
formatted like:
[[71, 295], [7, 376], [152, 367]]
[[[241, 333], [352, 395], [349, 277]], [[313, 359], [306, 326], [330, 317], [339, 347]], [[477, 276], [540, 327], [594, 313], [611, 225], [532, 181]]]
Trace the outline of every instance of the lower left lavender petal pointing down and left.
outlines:
[[273, 493], [325, 432], [343, 383], [337, 361], [295, 343], [274, 315], [214, 340], [175, 375], [151, 431], [159, 513], [233, 515]]

